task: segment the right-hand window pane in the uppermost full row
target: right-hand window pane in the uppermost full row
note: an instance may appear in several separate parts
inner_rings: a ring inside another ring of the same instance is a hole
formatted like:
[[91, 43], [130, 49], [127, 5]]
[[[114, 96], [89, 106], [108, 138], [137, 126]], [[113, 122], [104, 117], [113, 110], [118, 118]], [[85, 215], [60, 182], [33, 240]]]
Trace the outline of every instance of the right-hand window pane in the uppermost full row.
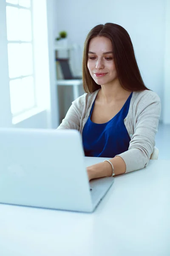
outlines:
[[31, 12], [26, 9], [20, 9], [20, 40], [31, 41]]

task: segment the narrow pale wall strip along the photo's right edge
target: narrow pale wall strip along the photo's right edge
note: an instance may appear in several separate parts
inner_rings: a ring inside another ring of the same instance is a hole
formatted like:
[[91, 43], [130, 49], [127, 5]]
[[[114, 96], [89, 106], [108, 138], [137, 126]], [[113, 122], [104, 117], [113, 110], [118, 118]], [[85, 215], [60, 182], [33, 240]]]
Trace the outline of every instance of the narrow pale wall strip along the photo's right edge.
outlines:
[[170, 124], [170, 0], [166, 0], [164, 62], [164, 123]]

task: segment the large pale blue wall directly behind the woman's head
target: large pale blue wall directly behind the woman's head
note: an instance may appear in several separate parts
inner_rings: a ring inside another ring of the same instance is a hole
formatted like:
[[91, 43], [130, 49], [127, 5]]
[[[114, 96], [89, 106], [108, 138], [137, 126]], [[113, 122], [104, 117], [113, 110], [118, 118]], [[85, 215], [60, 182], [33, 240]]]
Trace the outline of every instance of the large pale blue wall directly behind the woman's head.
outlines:
[[[66, 30], [68, 40], [83, 48], [87, 33], [95, 25], [112, 22], [123, 26], [132, 39], [146, 86], [158, 93], [163, 102], [165, 1], [56, 0], [55, 34]], [[81, 60], [79, 56], [80, 65]]]

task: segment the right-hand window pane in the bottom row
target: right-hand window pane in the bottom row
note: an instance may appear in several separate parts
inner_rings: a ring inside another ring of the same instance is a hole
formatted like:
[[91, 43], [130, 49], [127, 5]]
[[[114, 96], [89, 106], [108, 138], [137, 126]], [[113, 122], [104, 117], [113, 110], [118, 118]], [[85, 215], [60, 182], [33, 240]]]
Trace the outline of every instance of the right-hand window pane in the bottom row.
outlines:
[[34, 79], [32, 76], [28, 76], [21, 80], [23, 87], [23, 108], [32, 108], [35, 105], [34, 101]]

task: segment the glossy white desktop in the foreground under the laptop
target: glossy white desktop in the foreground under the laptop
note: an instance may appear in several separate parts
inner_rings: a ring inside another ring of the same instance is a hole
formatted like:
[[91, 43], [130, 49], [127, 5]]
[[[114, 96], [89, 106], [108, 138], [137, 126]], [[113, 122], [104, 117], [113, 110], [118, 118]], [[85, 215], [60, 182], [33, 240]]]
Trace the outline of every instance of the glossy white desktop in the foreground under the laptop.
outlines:
[[0, 205], [2, 256], [170, 256], [170, 161], [115, 177], [92, 214]]

